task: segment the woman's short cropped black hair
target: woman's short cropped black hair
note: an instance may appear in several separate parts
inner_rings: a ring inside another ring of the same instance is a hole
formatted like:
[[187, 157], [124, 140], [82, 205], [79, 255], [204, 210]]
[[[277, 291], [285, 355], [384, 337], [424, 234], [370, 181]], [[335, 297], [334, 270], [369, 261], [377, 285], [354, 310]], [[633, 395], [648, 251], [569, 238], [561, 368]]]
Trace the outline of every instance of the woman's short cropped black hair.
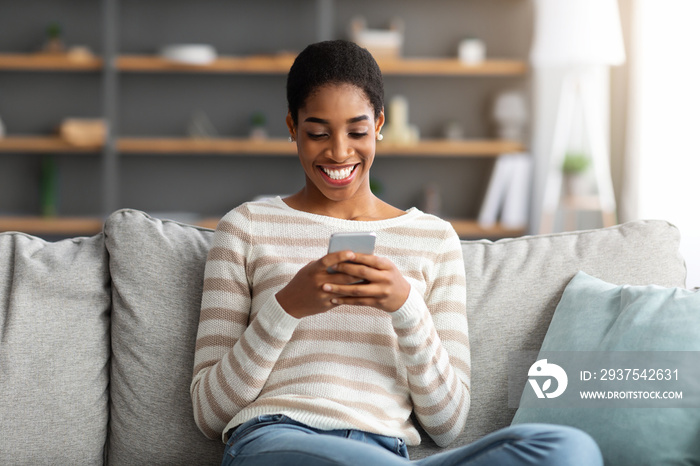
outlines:
[[384, 82], [374, 57], [354, 42], [329, 40], [306, 47], [289, 70], [287, 104], [295, 125], [306, 99], [327, 84], [359, 87], [374, 109], [374, 118], [379, 118], [384, 108]]

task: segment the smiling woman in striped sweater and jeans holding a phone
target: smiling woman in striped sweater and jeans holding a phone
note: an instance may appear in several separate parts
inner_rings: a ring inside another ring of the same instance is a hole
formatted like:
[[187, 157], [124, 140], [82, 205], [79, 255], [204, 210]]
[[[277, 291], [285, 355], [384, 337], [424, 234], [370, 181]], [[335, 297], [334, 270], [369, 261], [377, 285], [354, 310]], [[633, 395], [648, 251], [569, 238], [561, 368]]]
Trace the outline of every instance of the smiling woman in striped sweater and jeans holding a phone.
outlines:
[[[195, 421], [223, 464], [405, 464], [464, 428], [471, 363], [461, 243], [451, 225], [369, 187], [384, 124], [381, 72], [355, 44], [313, 44], [287, 83], [305, 184], [243, 204], [216, 229], [191, 384]], [[375, 254], [328, 252], [375, 232]], [[516, 426], [424, 465], [600, 464], [586, 434]], [[539, 462], [546, 459], [547, 462]]]

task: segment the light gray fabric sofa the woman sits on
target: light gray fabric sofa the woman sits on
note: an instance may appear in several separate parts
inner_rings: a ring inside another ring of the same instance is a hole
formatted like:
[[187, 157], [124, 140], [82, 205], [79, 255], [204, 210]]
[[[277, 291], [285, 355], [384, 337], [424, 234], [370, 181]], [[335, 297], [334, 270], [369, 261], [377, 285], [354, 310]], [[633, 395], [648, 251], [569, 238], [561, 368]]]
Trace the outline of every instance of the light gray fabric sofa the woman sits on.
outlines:
[[[0, 234], [0, 464], [220, 463], [189, 396], [212, 235], [134, 210], [89, 238]], [[455, 445], [510, 423], [508, 353], [539, 349], [577, 271], [683, 286], [678, 245], [663, 221], [463, 242], [472, 408]]]

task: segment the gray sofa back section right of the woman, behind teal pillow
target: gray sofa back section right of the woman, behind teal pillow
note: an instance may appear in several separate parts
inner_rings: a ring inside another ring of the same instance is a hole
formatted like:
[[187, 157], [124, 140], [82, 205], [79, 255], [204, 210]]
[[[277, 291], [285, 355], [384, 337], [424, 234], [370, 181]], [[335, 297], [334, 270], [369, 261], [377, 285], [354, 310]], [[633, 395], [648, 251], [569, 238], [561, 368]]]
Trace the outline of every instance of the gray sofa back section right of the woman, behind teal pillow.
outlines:
[[[537, 351], [566, 285], [579, 270], [610, 283], [684, 286], [680, 235], [664, 221], [464, 241], [467, 320], [472, 357], [472, 404], [458, 443], [510, 425], [508, 354]], [[430, 438], [414, 457], [437, 451]]]

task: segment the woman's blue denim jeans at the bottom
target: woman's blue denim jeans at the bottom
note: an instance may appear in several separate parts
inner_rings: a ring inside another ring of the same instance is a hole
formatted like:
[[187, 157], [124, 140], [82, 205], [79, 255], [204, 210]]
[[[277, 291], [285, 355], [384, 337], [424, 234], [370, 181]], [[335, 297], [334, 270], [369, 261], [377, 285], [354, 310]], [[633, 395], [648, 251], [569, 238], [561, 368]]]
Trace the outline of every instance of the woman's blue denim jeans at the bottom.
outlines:
[[[319, 430], [280, 414], [241, 424], [222, 466], [407, 466], [403, 440], [357, 430]], [[519, 424], [412, 464], [422, 466], [602, 465], [595, 441], [566, 426]]]

